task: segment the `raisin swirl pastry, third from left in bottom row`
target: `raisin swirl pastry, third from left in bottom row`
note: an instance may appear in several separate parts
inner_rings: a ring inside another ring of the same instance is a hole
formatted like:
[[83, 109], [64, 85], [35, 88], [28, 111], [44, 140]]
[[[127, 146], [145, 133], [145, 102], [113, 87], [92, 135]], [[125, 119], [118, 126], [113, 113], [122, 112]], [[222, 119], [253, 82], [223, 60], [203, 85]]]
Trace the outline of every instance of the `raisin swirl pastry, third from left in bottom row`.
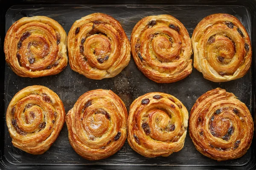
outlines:
[[132, 102], [128, 116], [128, 143], [149, 158], [169, 156], [185, 142], [189, 113], [174, 96], [148, 93]]

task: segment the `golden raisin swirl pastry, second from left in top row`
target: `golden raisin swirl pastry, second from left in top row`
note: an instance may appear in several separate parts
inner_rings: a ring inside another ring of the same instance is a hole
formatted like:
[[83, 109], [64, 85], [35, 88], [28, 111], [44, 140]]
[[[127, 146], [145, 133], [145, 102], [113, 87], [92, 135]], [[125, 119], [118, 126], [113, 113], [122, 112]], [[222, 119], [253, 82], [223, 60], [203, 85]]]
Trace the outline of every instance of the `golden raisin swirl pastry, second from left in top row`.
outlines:
[[67, 36], [67, 49], [71, 69], [90, 79], [115, 77], [131, 57], [120, 23], [101, 13], [76, 20]]

